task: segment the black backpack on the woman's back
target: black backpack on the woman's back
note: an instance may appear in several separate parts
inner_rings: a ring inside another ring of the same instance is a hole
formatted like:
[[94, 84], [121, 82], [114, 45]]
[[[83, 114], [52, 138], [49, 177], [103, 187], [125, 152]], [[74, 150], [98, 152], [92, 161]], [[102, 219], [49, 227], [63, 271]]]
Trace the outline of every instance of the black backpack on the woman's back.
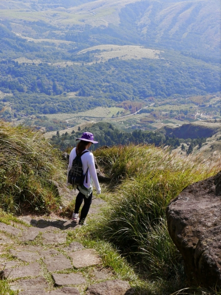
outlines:
[[77, 155], [72, 162], [71, 170], [68, 173], [68, 182], [71, 183], [73, 187], [74, 185], [83, 185], [84, 177], [87, 177], [87, 172], [83, 175], [83, 165], [81, 159], [81, 156], [86, 152], [89, 152], [89, 150], [84, 150], [83, 153], [80, 156]]

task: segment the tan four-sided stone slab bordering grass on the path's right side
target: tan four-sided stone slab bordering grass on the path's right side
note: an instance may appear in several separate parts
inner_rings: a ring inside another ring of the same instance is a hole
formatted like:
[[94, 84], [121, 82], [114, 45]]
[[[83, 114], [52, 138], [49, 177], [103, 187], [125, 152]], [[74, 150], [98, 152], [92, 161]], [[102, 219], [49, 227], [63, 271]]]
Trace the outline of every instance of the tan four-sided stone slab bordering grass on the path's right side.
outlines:
[[94, 249], [68, 252], [68, 256], [72, 258], [73, 266], [76, 268], [102, 264], [101, 258]]

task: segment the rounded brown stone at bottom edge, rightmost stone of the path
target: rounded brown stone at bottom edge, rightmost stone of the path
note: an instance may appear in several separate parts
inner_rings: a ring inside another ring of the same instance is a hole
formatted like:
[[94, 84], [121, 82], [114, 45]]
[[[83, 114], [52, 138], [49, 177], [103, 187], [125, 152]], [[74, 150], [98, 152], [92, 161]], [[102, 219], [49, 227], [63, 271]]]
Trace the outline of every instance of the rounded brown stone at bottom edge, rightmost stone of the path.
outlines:
[[126, 295], [133, 294], [128, 282], [121, 280], [106, 281], [87, 288], [86, 295]]

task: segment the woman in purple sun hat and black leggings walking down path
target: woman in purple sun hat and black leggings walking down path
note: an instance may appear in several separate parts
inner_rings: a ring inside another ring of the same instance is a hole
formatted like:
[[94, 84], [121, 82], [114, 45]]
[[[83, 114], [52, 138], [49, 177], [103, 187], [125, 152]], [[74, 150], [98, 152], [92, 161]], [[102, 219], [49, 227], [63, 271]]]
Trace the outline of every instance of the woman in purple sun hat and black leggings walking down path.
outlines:
[[98, 142], [94, 141], [94, 136], [90, 132], [84, 132], [81, 138], [77, 138], [76, 140], [80, 140], [76, 148], [73, 148], [70, 153], [69, 157], [69, 165], [68, 165], [68, 172], [67, 172], [67, 185], [73, 184], [69, 181], [69, 171], [72, 169], [73, 160], [77, 157], [81, 157], [82, 161], [82, 170], [83, 170], [83, 185], [74, 185], [74, 189], [78, 189], [79, 193], [76, 197], [75, 201], [75, 210], [72, 215], [72, 220], [77, 222], [79, 219], [79, 209], [84, 201], [83, 208], [81, 211], [81, 216], [79, 219], [79, 224], [85, 224], [85, 218], [89, 211], [91, 202], [92, 202], [92, 191], [93, 191], [93, 183], [97, 190], [97, 195], [101, 193], [101, 188], [98, 182], [96, 168], [94, 164], [94, 156], [92, 152], [87, 150], [90, 148], [92, 144], [98, 144]]

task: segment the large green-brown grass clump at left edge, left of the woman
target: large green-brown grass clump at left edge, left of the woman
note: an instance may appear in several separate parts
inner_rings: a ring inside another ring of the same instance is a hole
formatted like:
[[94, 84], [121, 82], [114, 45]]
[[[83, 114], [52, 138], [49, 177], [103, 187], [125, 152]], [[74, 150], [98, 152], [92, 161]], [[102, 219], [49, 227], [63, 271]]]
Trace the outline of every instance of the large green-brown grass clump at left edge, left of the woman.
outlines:
[[0, 206], [48, 211], [58, 202], [51, 180], [64, 180], [59, 152], [38, 131], [0, 121]]

